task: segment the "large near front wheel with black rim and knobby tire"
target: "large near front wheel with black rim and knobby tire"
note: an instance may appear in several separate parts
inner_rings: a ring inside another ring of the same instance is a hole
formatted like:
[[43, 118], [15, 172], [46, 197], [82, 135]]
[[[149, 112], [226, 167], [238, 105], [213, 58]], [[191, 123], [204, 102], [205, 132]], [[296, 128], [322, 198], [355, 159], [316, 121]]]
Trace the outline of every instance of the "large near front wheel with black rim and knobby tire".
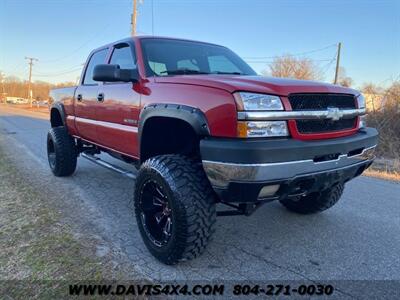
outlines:
[[135, 183], [135, 214], [143, 241], [171, 265], [199, 256], [216, 222], [215, 194], [201, 163], [182, 155], [145, 161]]

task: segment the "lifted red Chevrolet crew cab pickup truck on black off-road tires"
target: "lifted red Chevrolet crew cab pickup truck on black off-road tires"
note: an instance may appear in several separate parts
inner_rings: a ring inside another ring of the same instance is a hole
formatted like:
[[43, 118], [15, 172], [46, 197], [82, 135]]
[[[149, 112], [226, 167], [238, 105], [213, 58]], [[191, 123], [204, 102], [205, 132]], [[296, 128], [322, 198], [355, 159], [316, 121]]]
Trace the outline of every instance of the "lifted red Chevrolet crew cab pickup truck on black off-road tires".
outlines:
[[[274, 200], [301, 214], [330, 208], [371, 165], [377, 144], [359, 92], [257, 76], [231, 50], [189, 40], [100, 47], [79, 85], [52, 90], [51, 99], [54, 175], [72, 175], [82, 156], [136, 177], [140, 233], [166, 264], [202, 253], [217, 215], [250, 215]], [[217, 212], [217, 203], [228, 209]]]

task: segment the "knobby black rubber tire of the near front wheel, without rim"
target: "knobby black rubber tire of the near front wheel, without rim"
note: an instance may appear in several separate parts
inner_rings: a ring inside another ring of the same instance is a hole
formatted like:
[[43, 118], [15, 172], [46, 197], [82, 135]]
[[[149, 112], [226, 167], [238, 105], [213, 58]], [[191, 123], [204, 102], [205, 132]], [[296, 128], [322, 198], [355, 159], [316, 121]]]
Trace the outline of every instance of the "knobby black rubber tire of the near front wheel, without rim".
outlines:
[[155, 156], [143, 163], [138, 178], [148, 169], [159, 172], [167, 182], [174, 193], [177, 213], [182, 216], [175, 223], [178, 237], [173, 251], [161, 257], [148, 247], [150, 252], [167, 264], [199, 256], [210, 242], [216, 223], [215, 194], [201, 163], [177, 154]]

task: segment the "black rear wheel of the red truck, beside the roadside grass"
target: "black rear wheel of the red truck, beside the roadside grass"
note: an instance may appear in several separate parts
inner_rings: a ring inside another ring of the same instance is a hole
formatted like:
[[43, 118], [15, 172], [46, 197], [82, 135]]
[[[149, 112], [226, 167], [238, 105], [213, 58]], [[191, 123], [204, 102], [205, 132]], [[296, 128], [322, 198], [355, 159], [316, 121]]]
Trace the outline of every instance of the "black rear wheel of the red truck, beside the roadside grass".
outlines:
[[47, 134], [47, 158], [55, 176], [70, 176], [75, 172], [77, 149], [65, 127], [51, 128]]

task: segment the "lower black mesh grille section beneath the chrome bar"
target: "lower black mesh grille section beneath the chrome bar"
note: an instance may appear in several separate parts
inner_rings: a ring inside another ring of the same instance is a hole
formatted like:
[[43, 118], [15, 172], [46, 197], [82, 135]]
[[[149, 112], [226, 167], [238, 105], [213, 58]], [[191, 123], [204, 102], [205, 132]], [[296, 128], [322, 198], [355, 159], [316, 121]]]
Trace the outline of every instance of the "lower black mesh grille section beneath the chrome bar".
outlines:
[[351, 119], [332, 120], [297, 120], [297, 130], [302, 134], [326, 133], [349, 130], [356, 126], [357, 117]]

